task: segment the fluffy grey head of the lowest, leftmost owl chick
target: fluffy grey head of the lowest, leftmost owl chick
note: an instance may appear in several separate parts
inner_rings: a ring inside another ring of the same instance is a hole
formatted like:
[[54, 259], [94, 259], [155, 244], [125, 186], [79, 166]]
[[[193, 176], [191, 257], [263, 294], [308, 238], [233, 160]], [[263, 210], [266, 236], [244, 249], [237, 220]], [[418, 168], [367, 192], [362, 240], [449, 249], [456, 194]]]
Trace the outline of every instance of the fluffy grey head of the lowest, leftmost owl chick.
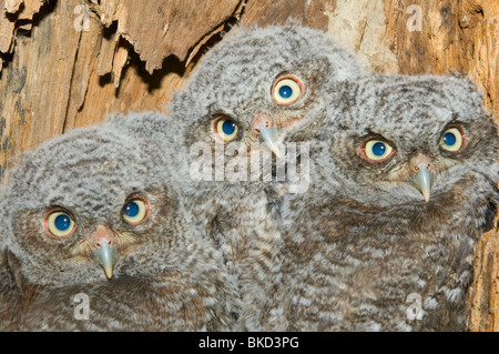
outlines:
[[2, 233], [28, 282], [84, 284], [185, 264], [179, 245], [189, 216], [154, 151], [152, 142], [92, 127], [20, 159], [3, 195]]

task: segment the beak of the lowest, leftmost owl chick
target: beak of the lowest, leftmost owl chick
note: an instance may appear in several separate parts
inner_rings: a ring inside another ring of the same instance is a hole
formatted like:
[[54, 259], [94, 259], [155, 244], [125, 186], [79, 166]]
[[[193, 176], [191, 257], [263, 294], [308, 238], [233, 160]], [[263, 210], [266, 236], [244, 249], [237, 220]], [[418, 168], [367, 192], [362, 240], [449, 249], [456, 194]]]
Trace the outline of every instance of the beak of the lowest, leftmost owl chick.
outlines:
[[103, 267], [105, 276], [108, 279], [113, 277], [113, 267], [118, 257], [114, 233], [110, 229], [99, 225], [90, 236], [90, 242], [92, 244], [92, 253]]

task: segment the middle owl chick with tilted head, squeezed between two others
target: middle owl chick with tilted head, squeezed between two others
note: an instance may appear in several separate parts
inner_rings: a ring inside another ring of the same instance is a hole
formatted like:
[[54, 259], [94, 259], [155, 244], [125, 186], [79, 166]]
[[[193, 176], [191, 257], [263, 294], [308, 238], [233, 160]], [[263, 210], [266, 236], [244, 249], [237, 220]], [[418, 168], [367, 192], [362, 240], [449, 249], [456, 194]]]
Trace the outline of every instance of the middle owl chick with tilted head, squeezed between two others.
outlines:
[[364, 71], [348, 50], [318, 30], [234, 31], [176, 93], [169, 120], [150, 113], [111, 123], [175, 146], [172, 163], [185, 175], [189, 205], [248, 297], [244, 326], [258, 328], [258, 304], [281, 242], [269, 151], [279, 154], [279, 131], [325, 107], [326, 81], [349, 80]]

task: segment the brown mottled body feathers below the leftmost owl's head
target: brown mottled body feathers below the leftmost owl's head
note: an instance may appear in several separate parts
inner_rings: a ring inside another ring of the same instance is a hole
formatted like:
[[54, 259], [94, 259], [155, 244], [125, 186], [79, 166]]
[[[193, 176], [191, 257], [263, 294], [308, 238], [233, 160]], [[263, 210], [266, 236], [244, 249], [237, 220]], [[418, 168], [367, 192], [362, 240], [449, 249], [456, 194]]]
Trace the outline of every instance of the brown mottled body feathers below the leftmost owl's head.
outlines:
[[207, 280], [171, 273], [44, 290], [14, 330], [230, 331], [234, 317], [221, 296], [227, 294], [213, 294], [213, 287]]

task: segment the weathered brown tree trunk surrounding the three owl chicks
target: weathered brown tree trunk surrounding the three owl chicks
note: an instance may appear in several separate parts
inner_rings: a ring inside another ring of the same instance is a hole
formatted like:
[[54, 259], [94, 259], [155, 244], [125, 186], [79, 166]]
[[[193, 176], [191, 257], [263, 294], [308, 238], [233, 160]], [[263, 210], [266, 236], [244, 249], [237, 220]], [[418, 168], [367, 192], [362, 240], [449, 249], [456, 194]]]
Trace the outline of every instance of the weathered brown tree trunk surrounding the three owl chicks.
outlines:
[[[469, 75], [499, 123], [497, 0], [0, 0], [0, 179], [74, 127], [164, 111], [234, 24], [287, 22], [328, 31], [374, 72]], [[498, 237], [477, 250], [472, 331], [499, 331]]]

